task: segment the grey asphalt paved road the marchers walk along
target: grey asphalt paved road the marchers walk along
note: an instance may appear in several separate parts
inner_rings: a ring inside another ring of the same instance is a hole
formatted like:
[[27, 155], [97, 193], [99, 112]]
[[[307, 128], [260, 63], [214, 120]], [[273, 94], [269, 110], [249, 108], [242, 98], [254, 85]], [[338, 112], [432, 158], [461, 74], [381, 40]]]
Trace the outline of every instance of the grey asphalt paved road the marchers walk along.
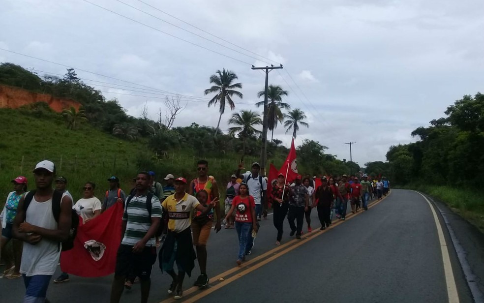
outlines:
[[[312, 214], [314, 227], [319, 227]], [[453, 281], [446, 280], [441, 243], [431, 209], [413, 191], [393, 190], [367, 212], [334, 220], [324, 232], [306, 233], [293, 240], [286, 232], [276, 248], [275, 229], [262, 221], [253, 254], [237, 268], [235, 230], [212, 233], [209, 240], [211, 287], [191, 288], [198, 266], [185, 279], [186, 302], [449, 302], [447, 284], [455, 283], [461, 303], [473, 302], [452, 242], [444, 225], [450, 249]], [[440, 224], [440, 223], [439, 223]], [[305, 227], [304, 227], [305, 228]], [[286, 222], [285, 230], [289, 231]], [[150, 302], [173, 301], [166, 290], [170, 278], [155, 264]], [[448, 275], [447, 275], [448, 276]], [[223, 278], [219, 281], [218, 278]], [[52, 284], [52, 302], [108, 302], [112, 276], [80, 278]], [[0, 279], [0, 301], [19, 302], [21, 279]], [[125, 292], [122, 302], [138, 302], [139, 285]]]

